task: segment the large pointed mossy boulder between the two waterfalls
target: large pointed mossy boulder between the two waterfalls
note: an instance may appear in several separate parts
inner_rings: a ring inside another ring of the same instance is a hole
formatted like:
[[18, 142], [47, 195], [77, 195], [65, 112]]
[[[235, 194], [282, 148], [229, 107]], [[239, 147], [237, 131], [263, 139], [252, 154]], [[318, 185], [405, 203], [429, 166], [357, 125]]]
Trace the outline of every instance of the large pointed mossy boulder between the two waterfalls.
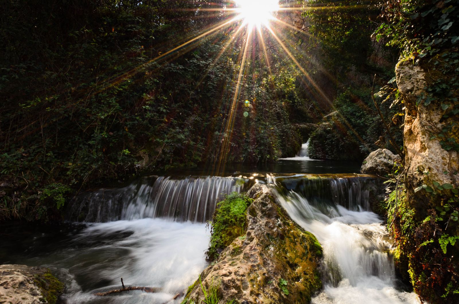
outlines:
[[201, 273], [182, 303], [308, 303], [322, 287], [315, 236], [289, 218], [268, 186], [247, 195], [254, 200], [243, 235]]

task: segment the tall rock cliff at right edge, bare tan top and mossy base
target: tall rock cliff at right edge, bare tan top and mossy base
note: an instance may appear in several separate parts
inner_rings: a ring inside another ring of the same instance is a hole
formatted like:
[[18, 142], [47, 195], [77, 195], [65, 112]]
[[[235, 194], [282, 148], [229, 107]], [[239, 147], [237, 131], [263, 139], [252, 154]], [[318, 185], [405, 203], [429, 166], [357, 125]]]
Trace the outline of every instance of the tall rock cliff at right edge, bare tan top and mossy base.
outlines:
[[442, 146], [459, 142], [457, 118], [448, 115], [457, 108], [458, 92], [426, 101], [445, 78], [457, 75], [440, 73], [427, 60], [399, 62], [396, 75], [406, 106], [404, 190], [387, 206], [396, 265], [421, 299], [459, 303], [459, 154]]

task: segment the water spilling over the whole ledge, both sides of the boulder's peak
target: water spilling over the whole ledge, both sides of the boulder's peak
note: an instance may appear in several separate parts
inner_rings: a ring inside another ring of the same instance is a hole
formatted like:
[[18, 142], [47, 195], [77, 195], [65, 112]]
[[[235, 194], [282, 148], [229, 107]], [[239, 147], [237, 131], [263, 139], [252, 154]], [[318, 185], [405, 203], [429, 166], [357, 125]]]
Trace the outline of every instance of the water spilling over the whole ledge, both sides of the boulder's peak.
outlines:
[[311, 202], [327, 202], [351, 210], [368, 210], [369, 191], [375, 187], [375, 177], [371, 175], [148, 176], [123, 188], [79, 194], [70, 203], [66, 220], [109, 222], [159, 217], [202, 223], [212, 218], [225, 194], [247, 190], [257, 182], [277, 182], [285, 190], [302, 193]]

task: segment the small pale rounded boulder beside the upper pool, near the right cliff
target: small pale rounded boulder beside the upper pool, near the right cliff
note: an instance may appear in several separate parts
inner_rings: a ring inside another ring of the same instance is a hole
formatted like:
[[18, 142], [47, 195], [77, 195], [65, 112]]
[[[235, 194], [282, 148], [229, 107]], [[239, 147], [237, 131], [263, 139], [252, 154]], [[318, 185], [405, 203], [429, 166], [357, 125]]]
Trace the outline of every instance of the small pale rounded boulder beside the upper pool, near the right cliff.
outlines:
[[387, 149], [378, 149], [365, 158], [360, 170], [362, 173], [384, 176], [391, 173], [397, 159], [400, 159], [397, 154]]

